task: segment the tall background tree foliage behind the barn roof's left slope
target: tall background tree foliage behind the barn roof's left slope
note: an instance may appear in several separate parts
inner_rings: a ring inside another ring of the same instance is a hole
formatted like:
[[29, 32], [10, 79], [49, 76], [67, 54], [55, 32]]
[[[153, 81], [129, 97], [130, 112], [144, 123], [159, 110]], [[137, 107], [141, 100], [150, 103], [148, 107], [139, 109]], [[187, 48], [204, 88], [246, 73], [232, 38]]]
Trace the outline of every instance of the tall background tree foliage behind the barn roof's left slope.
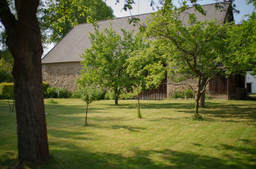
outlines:
[[74, 26], [113, 18], [113, 10], [103, 0], [47, 0], [40, 10], [40, 25], [48, 42], [57, 43]]

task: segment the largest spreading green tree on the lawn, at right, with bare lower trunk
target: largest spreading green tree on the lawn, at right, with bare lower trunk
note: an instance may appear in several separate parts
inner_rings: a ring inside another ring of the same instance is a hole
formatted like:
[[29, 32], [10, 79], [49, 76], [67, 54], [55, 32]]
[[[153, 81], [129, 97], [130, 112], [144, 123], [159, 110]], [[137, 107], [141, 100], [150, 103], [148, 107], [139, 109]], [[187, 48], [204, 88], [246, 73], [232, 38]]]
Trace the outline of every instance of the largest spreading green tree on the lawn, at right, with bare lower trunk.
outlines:
[[172, 80], [197, 79], [194, 119], [201, 119], [199, 100], [207, 83], [234, 66], [226, 41], [231, 26], [216, 21], [199, 22], [193, 14], [184, 25], [179, 17], [185, 9], [166, 5], [152, 15], [147, 34], [162, 44]]

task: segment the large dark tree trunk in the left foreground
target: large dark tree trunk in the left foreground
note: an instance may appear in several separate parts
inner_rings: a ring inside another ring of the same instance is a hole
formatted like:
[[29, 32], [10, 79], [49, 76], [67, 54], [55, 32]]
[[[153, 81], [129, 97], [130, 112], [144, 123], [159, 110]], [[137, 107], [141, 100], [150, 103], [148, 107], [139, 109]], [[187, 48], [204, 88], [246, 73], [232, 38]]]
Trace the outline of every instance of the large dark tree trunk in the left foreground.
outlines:
[[18, 158], [35, 162], [49, 159], [45, 120], [41, 32], [36, 18], [39, 1], [15, 1], [18, 20], [7, 2], [0, 2], [0, 18], [13, 58], [14, 97], [17, 120]]

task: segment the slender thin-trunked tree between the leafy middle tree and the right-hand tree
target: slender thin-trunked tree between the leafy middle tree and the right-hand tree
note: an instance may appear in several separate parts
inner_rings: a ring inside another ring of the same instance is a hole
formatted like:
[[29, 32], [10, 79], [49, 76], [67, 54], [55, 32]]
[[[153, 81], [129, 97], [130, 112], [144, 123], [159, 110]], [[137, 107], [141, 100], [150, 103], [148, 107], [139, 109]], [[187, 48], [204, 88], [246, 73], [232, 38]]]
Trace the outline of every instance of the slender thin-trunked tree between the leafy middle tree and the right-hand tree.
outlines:
[[131, 87], [122, 94], [123, 98], [137, 99], [137, 117], [142, 118], [140, 111], [140, 93], [159, 87], [165, 78], [165, 60], [156, 55], [159, 46], [152, 42], [151, 48], [148, 44], [142, 44], [139, 50], [132, 52], [127, 59], [127, 73], [131, 79]]

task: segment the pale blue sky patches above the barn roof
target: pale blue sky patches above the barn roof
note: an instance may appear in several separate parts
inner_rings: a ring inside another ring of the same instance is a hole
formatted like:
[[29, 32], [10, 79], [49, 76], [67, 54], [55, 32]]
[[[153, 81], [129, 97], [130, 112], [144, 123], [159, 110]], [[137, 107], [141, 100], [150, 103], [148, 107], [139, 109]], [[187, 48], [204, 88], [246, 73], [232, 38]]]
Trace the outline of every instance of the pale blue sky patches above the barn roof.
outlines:
[[[150, 13], [150, 12], [154, 12], [157, 10], [156, 8], [155, 8], [155, 10], [152, 10], [152, 8], [150, 7], [150, 0], [134, 0], [134, 2], [136, 4], [133, 5], [133, 9], [131, 11], [122, 10], [122, 8], [124, 7], [124, 4], [123, 4], [124, 0], [120, 0], [120, 3], [116, 4], [116, 5], [115, 5], [115, 2], [116, 2], [115, 0], [107, 0], [106, 4], [108, 6], [112, 7], [112, 9], [114, 10], [114, 15], [116, 17], [130, 16], [131, 14], [137, 15], [138, 13], [139, 14]], [[157, 3], [158, 0], [155, 0], [154, 2]], [[174, 2], [174, 5], [178, 5], [178, 0], [174, 0], [173, 2]], [[205, 4], [215, 3], [215, 1], [214, 0], [199, 0], [199, 3], [201, 5], [205, 5]], [[253, 6], [252, 6], [252, 4], [247, 5], [246, 0], [235, 0], [234, 4], [237, 6], [236, 9], [238, 9], [240, 11], [239, 14], [234, 13], [235, 23], [240, 23], [245, 14], [252, 12]], [[156, 5], [158, 5], [158, 4], [156, 4]], [[139, 10], [138, 10], [138, 6], [140, 6]]]

